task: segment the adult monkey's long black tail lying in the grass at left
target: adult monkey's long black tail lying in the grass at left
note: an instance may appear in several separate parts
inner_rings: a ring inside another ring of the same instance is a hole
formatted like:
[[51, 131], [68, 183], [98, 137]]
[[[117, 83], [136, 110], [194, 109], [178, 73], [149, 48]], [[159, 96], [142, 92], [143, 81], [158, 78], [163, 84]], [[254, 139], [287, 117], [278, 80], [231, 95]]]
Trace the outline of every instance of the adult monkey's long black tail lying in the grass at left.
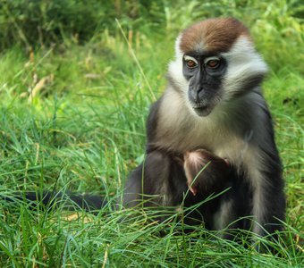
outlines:
[[30, 208], [38, 206], [46, 209], [62, 206], [67, 210], [83, 209], [88, 212], [97, 212], [106, 205], [106, 198], [92, 194], [74, 194], [70, 192], [17, 192], [12, 196], [2, 196], [1, 199], [7, 202], [16, 203], [24, 201], [29, 203]]

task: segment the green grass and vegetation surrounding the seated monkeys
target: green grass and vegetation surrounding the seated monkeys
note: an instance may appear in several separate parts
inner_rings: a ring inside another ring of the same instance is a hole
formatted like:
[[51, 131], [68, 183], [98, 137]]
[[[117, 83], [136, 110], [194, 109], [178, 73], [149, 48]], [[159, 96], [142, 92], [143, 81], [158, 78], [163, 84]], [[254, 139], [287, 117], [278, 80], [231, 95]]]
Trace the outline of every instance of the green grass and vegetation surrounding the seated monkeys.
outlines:
[[[270, 67], [264, 91], [288, 197], [279, 255], [202, 227], [183, 235], [174, 216], [156, 224], [152, 212], [111, 211], [143, 158], [174, 38], [227, 15], [249, 26]], [[300, 0], [1, 0], [0, 196], [69, 189], [110, 205], [93, 215], [0, 201], [0, 266], [303, 267], [303, 15]]]

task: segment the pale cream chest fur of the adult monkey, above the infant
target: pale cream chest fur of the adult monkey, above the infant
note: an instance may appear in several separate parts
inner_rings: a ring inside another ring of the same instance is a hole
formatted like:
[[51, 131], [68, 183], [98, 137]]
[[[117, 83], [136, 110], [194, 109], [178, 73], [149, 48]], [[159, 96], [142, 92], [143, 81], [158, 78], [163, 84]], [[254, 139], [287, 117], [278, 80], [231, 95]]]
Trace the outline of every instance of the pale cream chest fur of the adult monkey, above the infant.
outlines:
[[185, 99], [173, 90], [165, 93], [160, 106], [156, 146], [181, 153], [205, 148], [234, 161], [243, 157], [248, 143], [237, 135], [237, 131], [227, 129], [227, 124], [223, 123], [225, 114], [218, 110], [207, 117], [199, 117]]

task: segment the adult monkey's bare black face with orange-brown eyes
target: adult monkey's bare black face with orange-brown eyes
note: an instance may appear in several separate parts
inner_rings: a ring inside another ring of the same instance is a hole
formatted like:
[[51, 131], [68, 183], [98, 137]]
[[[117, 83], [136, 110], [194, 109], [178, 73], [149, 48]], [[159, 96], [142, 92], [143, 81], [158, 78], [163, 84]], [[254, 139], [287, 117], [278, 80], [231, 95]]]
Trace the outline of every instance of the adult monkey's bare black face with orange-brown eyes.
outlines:
[[227, 63], [216, 54], [183, 54], [182, 73], [189, 81], [190, 106], [199, 116], [207, 116], [222, 98]]

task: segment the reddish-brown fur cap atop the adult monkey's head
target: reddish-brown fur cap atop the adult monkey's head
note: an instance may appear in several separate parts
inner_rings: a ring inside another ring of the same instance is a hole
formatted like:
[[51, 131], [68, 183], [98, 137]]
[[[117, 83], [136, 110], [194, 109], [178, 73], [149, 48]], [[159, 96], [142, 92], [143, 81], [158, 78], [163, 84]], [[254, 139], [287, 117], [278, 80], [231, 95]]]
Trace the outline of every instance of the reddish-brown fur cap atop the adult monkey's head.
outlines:
[[241, 21], [234, 18], [208, 19], [183, 30], [180, 48], [183, 53], [227, 52], [241, 35], [249, 37], [249, 30]]

